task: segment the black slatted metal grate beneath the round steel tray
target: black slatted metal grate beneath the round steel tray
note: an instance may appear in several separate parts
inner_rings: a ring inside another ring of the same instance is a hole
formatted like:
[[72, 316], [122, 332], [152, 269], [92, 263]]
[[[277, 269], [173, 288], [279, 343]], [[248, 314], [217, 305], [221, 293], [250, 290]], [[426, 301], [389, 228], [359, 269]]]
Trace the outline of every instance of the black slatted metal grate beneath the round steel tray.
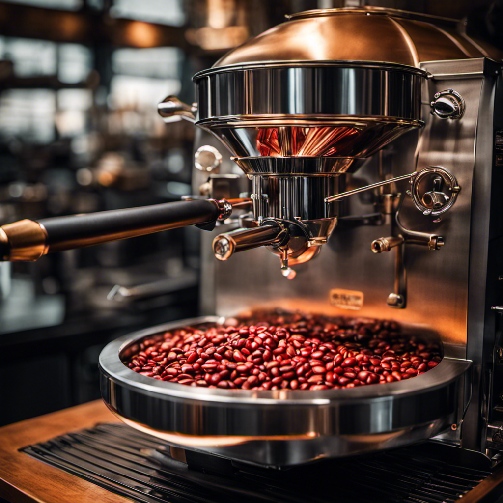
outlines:
[[145, 503], [449, 503], [490, 473], [487, 458], [436, 443], [288, 470], [188, 453], [122, 424], [104, 424], [23, 452]]

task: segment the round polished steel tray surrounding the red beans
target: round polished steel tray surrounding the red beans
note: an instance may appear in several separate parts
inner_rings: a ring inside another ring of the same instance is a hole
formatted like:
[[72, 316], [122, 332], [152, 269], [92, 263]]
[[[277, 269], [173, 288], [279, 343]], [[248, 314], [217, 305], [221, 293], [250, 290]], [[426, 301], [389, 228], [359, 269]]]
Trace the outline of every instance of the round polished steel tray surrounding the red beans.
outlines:
[[321, 391], [193, 387], [142, 376], [122, 363], [147, 336], [221, 322], [217, 316], [172, 322], [110, 343], [100, 355], [105, 403], [126, 424], [177, 447], [268, 466], [397, 447], [456, 423], [470, 362], [448, 356], [405, 381]]

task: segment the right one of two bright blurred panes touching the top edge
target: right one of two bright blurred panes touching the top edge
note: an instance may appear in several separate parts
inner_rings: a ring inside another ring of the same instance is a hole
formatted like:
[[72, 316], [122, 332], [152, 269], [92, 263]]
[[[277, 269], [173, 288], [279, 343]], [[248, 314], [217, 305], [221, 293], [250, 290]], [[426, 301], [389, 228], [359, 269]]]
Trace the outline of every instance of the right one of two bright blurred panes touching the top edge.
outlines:
[[110, 15], [175, 26], [185, 23], [182, 0], [116, 0]]

